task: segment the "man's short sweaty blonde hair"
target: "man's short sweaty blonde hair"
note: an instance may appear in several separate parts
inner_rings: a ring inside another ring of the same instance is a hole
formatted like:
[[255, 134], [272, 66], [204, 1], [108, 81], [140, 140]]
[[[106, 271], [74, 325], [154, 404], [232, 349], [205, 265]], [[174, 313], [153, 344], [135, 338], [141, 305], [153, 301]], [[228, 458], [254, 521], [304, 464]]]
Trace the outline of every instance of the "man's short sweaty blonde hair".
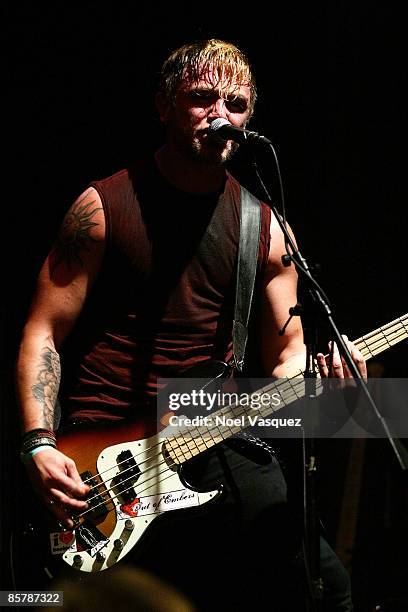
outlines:
[[256, 100], [256, 84], [245, 54], [235, 45], [212, 38], [183, 45], [173, 51], [161, 69], [160, 91], [174, 103], [183, 81], [193, 83], [208, 76], [216, 77], [220, 93], [233, 85], [237, 90], [248, 85], [251, 90], [250, 115]]

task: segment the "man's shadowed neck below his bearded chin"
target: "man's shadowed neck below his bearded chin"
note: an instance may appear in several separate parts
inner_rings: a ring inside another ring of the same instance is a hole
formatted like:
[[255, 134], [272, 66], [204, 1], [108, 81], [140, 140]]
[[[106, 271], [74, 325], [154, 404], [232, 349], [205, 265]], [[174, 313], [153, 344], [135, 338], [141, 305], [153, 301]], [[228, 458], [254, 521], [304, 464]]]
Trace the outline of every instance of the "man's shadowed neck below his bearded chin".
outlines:
[[165, 179], [187, 193], [213, 193], [225, 180], [223, 166], [189, 159], [169, 144], [156, 151], [155, 160]]

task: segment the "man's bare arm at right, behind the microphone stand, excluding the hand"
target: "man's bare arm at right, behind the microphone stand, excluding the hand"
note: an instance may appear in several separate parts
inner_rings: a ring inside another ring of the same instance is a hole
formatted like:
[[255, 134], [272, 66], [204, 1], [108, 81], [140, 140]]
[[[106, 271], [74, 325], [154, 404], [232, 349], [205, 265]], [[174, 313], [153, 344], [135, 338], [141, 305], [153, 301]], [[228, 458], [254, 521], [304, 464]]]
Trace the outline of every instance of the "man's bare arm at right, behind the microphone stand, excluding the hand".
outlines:
[[285, 267], [286, 253], [282, 231], [272, 215], [271, 245], [264, 279], [260, 322], [261, 350], [267, 376], [294, 376], [304, 371], [306, 357], [299, 317], [293, 317], [283, 336], [279, 335], [289, 317], [289, 308], [297, 302], [297, 272], [292, 264]]

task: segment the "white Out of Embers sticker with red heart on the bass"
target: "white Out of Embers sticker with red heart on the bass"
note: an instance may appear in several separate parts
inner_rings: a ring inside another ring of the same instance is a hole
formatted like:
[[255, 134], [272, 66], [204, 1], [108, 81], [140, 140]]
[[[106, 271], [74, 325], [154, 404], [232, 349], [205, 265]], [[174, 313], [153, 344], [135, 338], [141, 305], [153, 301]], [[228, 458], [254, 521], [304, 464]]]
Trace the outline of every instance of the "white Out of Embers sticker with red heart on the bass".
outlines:
[[146, 495], [146, 497], [136, 497], [129, 504], [122, 504], [117, 508], [119, 519], [135, 518], [146, 514], [156, 514], [167, 512], [168, 510], [178, 510], [189, 506], [198, 506], [198, 493], [190, 489], [180, 491], [169, 491], [159, 495]]

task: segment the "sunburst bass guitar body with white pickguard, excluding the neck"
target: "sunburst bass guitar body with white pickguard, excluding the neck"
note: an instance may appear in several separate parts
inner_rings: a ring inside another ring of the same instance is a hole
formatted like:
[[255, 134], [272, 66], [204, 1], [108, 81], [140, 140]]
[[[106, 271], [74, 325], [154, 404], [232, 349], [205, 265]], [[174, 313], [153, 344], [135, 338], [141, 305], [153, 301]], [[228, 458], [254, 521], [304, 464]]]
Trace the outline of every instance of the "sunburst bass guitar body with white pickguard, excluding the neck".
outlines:
[[[53, 555], [75, 569], [97, 572], [123, 559], [152, 521], [164, 512], [201, 506], [222, 487], [198, 491], [183, 478], [162, 434], [140, 438], [140, 428], [126, 424], [81, 425], [58, 438], [91, 488], [88, 509], [72, 531], [50, 533]], [[133, 440], [133, 441], [130, 441]]]

